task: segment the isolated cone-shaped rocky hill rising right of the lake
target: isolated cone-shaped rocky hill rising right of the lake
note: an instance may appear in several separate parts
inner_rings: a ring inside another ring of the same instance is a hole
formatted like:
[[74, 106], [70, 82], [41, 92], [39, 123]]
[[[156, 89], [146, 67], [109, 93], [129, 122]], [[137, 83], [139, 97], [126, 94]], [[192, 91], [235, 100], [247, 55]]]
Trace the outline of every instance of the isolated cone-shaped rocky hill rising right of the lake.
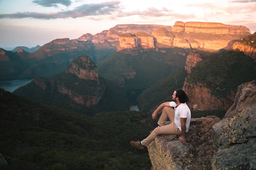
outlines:
[[91, 108], [102, 99], [105, 86], [93, 61], [88, 56], [80, 56], [61, 74], [51, 79], [34, 78], [33, 82], [14, 92], [65, 108]]

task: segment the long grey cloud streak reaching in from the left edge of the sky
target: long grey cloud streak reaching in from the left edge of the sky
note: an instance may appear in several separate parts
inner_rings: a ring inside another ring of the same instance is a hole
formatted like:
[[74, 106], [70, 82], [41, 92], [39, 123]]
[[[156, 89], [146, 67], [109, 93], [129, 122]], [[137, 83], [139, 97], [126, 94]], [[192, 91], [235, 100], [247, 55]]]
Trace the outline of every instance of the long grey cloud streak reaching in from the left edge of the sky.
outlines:
[[56, 19], [56, 18], [77, 18], [83, 16], [95, 16], [112, 14], [119, 9], [120, 2], [112, 1], [100, 4], [83, 4], [73, 10], [56, 13], [17, 12], [13, 14], [0, 14], [0, 18], [35, 18], [35, 19]]

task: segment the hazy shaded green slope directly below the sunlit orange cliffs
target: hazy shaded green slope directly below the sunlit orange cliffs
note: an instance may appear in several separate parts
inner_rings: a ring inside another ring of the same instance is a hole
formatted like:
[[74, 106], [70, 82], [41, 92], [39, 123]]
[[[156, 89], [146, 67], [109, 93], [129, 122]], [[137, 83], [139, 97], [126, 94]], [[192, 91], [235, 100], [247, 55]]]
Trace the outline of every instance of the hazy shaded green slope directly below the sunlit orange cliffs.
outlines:
[[99, 75], [124, 85], [127, 91], [145, 89], [185, 65], [187, 51], [184, 49], [162, 50], [165, 53], [156, 50], [117, 52], [97, 64]]

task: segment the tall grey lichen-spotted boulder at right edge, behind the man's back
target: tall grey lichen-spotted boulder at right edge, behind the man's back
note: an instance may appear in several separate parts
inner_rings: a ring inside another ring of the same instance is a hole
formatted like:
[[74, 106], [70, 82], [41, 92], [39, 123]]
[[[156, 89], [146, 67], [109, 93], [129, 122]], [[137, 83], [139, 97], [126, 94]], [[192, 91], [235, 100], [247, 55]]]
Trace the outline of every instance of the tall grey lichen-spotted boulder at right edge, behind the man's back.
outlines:
[[256, 167], [256, 81], [239, 86], [225, 118], [212, 127], [215, 155], [212, 169]]

